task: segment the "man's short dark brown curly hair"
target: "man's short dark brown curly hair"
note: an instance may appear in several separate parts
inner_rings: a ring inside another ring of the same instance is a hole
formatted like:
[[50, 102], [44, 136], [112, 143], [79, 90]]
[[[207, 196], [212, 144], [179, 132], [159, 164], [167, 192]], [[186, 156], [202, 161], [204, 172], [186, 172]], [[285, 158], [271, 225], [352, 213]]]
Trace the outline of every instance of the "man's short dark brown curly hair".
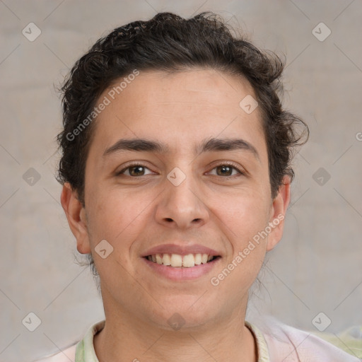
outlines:
[[292, 149], [303, 144], [303, 136], [308, 139], [309, 131], [302, 119], [281, 106], [281, 59], [257, 49], [243, 36], [232, 35], [215, 13], [189, 19], [158, 13], [100, 38], [78, 59], [62, 86], [64, 130], [57, 136], [62, 149], [57, 180], [69, 182], [83, 206], [86, 158], [95, 124], [89, 115], [103, 91], [135, 69], [173, 73], [192, 68], [216, 69], [250, 82], [262, 111], [271, 196], [276, 197], [284, 175], [293, 179]]

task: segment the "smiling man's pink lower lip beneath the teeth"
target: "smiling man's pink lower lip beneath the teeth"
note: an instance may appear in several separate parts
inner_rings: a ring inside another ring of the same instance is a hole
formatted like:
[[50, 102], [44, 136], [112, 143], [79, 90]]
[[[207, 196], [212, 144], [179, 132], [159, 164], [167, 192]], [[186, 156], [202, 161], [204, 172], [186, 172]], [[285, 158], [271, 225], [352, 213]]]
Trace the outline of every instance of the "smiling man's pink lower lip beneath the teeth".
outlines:
[[150, 262], [148, 259], [143, 257], [144, 262], [150, 267], [153, 271], [158, 273], [161, 276], [164, 276], [167, 279], [173, 281], [187, 281], [198, 279], [205, 274], [208, 274], [211, 269], [213, 269], [221, 257], [214, 259], [212, 262], [208, 262], [206, 264], [195, 265], [190, 268], [174, 268], [163, 264], [157, 264], [154, 262]]

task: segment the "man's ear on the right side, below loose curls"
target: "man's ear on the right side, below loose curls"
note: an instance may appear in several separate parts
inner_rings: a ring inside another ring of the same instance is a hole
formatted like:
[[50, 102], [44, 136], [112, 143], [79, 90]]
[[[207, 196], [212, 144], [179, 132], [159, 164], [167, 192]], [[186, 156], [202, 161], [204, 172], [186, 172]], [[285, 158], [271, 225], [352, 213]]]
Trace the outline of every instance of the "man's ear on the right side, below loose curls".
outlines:
[[285, 175], [283, 177], [283, 184], [279, 187], [278, 194], [276, 195], [273, 203], [271, 204], [269, 226], [271, 233], [268, 236], [267, 251], [272, 250], [276, 244], [279, 243], [283, 236], [284, 218], [286, 209], [291, 199], [291, 177]]

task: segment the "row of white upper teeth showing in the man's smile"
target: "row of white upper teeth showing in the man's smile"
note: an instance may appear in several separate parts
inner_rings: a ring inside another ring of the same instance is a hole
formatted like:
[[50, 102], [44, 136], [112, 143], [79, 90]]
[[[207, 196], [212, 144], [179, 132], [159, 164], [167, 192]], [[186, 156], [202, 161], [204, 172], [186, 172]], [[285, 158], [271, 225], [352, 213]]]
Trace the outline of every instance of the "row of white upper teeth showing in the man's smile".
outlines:
[[150, 262], [170, 265], [174, 268], [192, 268], [195, 265], [206, 264], [213, 258], [212, 255], [207, 254], [188, 254], [183, 256], [179, 254], [156, 254], [147, 257]]

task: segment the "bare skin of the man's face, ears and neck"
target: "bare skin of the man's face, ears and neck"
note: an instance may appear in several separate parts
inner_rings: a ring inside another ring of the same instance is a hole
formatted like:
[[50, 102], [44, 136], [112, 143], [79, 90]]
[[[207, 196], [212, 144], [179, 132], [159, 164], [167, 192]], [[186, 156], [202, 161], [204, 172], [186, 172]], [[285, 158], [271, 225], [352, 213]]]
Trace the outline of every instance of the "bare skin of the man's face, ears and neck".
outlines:
[[[67, 183], [61, 200], [78, 252], [93, 254], [100, 275], [106, 317], [94, 338], [100, 362], [257, 361], [255, 339], [244, 325], [248, 290], [266, 252], [281, 240], [284, 222], [218, 286], [210, 283], [253, 236], [285, 214], [290, 199], [287, 176], [271, 199], [261, 116], [259, 108], [250, 115], [240, 108], [246, 95], [256, 98], [245, 79], [212, 69], [141, 71], [96, 119], [85, 208]], [[194, 153], [211, 137], [244, 139], [258, 157], [245, 150]], [[103, 156], [119, 139], [133, 138], [160, 141], [170, 152]], [[140, 176], [130, 169], [117, 175], [130, 161], [146, 166]], [[232, 169], [227, 179], [218, 173], [216, 166], [227, 161], [244, 174]], [[177, 187], [167, 178], [175, 167], [186, 175]], [[105, 259], [94, 250], [104, 239], [114, 248]], [[211, 247], [221, 259], [196, 280], [161, 278], [140, 255], [175, 240]], [[174, 313], [185, 320], [177, 331], [168, 325]]]

